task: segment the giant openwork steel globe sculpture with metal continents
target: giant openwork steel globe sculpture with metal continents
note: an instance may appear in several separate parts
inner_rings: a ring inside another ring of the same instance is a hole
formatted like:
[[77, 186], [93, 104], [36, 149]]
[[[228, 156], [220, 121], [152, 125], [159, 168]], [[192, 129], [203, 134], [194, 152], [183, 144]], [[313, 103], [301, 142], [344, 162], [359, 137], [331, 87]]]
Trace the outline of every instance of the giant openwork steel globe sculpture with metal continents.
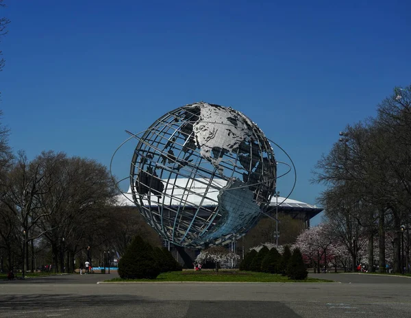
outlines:
[[133, 201], [166, 241], [192, 248], [229, 243], [269, 206], [277, 176], [273, 149], [241, 112], [192, 103], [133, 136]]

